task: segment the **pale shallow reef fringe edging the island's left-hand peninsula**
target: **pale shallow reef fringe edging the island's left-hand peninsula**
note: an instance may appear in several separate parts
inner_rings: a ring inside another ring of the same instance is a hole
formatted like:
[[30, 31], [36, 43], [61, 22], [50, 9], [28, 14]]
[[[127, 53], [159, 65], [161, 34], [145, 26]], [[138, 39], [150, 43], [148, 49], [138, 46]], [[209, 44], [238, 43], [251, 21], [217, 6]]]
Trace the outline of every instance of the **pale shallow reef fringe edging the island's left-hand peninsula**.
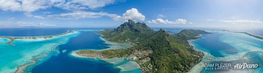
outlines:
[[[97, 33], [96, 33], [97, 34]], [[100, 34], [98, 34], [100, 35]], [[104, 58], [103, 55], [95, 55], [94, 57], [91, 57], [91, 56], [85, 56], [85, 55], [79, 55], [77, 54], [77, 52], [79, 51], [85, 51], [85, 50], [92, 50], [92, 51], [105, 51], [105, 50], [118, 50], [118, 49], [128, 49], [128, 48], [131, 48], [133, 47], [133, 45], [129, 44], [129, 43], [116, 43], [116, 42], [111, 42], [111, 41], [108, 41], [106, 40], [105, 38], [102, 37], [103, 35], [100, 35], [100, 39], [105, 41], [106, 44], [110, 44], [109, 45], [109, 48], [106, 48], [106, 49], [102, 49], [102, 50], [94, 50], [94, 49], [82, 49], [82, 50], [75, 50], [75, 51], [71, 51], [70, 55], [73, 56], [73, 57], [77, 57], [77, 58], [91, 58], [91, 59], [97, 59], [99, 58], [99, 60], [102, 60], [106, 63], [110, 63], [110, 64], [119, 64], [120, 61], [124, 62], [123, 59], [128, 59], [128, 58]], [[117, 59], [117, 60], [116, 60]], [[113, 62], [112, 62], [113, 61]], [[115, 62], [114, 62], [115, 61]], [[116, 61], [118, 61], [116, 63]], [[127, 63], [127, 64], [126, 64]], [[135, 64], [136, 63], [136, 64]], [[135, 67], [134, 69], [132, 68], [126, 68], [126, 67], [122, 67], [122, 65], [134, 65], [137, 67]], [[114, 66], [115, 68], [118, 68], [120, 69], [120, 72], [126, 72], [126, 71], [133, 71], [133, 70], [136, 70], [136, 69], [140, 69], [140, 66], [137, 62], [129, 59], [129, 61], [121, 64], [121, 65], [118, 65], [118, 66]], [[132, 70], [131, 70], [132, 69]]]

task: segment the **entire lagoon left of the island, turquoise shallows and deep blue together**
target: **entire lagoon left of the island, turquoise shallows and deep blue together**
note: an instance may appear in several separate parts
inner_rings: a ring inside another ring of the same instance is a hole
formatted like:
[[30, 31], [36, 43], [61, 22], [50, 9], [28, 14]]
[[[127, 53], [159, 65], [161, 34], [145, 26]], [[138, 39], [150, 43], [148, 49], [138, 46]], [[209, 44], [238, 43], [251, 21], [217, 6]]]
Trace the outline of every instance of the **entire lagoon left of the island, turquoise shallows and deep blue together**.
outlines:
[[[16, 39], [11, 46], [1, 42], [0, 73], [15, 72], [17, 67], [26, 73], [141, 73], [138, 64], [129, 59], [91, 59], [70, 55], [72, 51], [105, 50], [130, 45], [106, 42], [94, 31], [78, 30], [49, 39]], [[134, 65], [132, 68], [122, 66]], [[122, 69], [124, 68], [124, 69]], [[24, 69], [24, 70], [23, 70]]]

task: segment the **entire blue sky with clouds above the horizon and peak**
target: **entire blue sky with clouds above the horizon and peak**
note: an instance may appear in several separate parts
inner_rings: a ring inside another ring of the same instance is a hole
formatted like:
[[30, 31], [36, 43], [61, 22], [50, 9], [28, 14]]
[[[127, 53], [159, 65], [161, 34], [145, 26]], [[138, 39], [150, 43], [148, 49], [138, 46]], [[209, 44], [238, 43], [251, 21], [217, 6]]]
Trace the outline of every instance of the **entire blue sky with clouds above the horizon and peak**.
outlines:
[[0, 28], [263, 29], [263, 0], [0, 0]]

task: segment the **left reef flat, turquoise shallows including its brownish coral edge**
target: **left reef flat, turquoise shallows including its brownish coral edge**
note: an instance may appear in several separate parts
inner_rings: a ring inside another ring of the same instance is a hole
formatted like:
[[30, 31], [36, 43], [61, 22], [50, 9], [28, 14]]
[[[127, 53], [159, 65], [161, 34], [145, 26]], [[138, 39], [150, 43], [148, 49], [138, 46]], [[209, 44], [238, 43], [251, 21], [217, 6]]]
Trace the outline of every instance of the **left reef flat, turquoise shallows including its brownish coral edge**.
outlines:
[[[0, 73], [27, 73], [31, 67], [44, 61], [56, 47], [65, 44], [69, 38], [77, 36], [78, 31], [44, 37], [0, 37]], [[12, 38], [12, 44], [9, 39]], [[56, 52], [57, 53], [57, 52]]]

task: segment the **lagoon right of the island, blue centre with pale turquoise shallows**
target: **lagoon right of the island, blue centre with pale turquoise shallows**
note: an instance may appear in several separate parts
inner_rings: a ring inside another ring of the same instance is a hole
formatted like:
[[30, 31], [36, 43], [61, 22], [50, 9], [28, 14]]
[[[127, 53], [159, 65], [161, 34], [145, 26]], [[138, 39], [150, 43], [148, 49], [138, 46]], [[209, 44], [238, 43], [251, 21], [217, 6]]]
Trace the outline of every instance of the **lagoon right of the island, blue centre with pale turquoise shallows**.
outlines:
[[[263, 39], [242, 33], [207, 31], [200, 39], [189, 40], [197, 51], [205, 55], [189, 73], [261, 73], [263, 71]], [[230, 63], [227, 70], [211, 70], [202, 67], [208, 63]], [[234, 69], [236, 64], [258, 64], [257, 68]]]

